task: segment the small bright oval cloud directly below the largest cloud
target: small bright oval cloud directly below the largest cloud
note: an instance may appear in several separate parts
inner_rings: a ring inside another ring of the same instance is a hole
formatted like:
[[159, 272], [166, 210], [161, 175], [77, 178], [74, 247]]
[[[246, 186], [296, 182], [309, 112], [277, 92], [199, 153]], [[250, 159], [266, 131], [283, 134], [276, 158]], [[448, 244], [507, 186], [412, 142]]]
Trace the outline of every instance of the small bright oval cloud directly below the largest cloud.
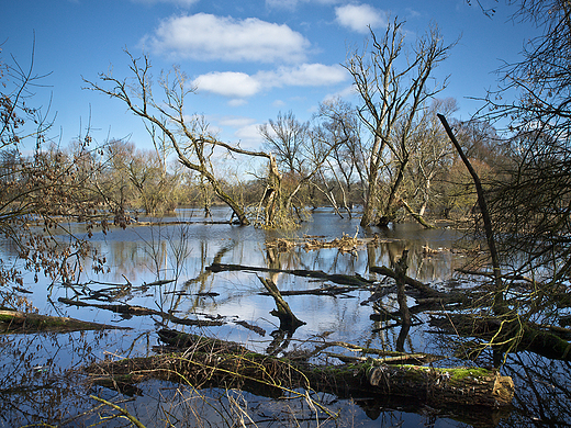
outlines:
[[206, 91], [231, 98], [248, 98], [258, 93], [260, 83], [245, 72], [213, 71], [199, 76], [192, 82], [199, 92]]

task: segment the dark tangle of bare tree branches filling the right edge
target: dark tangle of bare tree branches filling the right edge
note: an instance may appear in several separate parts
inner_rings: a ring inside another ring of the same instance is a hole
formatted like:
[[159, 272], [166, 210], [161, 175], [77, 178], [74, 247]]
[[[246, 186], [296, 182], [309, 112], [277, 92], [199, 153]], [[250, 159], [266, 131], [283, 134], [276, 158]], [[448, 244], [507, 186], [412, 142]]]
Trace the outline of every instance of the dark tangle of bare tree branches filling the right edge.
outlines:
[[535, 314], [553, 307], [562, 282], [571, 279], [571, 4], [510, 3], [517, 7], [514, 18], [531, 21], [540, 35], [525, 44], [519, 63], [500, 70], [500, 94], [517, 98], [505, 102], [507, 97], [490, 93], [486, 99], [484, 120], [508, 119], [503, 135], [510, 154], [490, 183], [489, 205], [503, 260], [518, 273], [548, 279], [530, 294]]

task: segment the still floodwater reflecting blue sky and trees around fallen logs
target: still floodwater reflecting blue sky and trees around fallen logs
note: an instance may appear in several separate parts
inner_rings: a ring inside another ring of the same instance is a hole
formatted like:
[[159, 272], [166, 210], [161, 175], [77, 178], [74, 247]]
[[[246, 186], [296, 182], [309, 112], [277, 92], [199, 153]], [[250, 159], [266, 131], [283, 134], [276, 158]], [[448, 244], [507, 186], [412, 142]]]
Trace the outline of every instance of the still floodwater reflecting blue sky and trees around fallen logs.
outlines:
[[[214, 210], [214, 221], [228, 217], [227, 211]], [[309, 399], [302, 391], [276, 399], [245, 391], [194, 390], [163, 381], [146, 381], [123, 393], [90, 385], [81, 368], [103, 359], [153, 354], [153, 347], [160, 345], [157, 330], [163, 327], [238, 341], [258, 352], [272, 349], [278, 354], [280, 349], [290, 351], [324, 341], [395, 349], [400, 327], [383, 328], [387, 323], [370, 319], [373, 308], [363, 304], [371, 295], [370, 290], [336, 296], [286, 296], [292, 312], [305, 325], [291, 337], [284, 337], [278, 331], [279, 320], [270, 315], [276, 307], [272, 297], [260, 294], [265, 290], [258, 275], [271, 278], [281, 291], [318, 289], [332, 285], [331, 282], [247, 270], [212, 273], [205, 268], [213, 262], [358, 273], [382, 283], [385, 279], [370, 273], [369, 267], [391, 266], [407, 249], [410, 277], [440, 290], [467, 285], [449, 281], [455, 279], [455, 268], [466, 261], [462, 255], [443, 251], [433, 257], [423, 256], [423, 246], [451, 248], [461, 237], [447, 228], [425, 230], [415, 224], [403, 224], [388, 230], [365, 232], [358, 227], [358, 218], [339, 218], [327, 210], [316, 211], [311, 222], [291, 233], [227, 224], [167, 224], [173, 219], [203, 218], [200, 211], [180, 210], [177, 218], [161, 218], [163, 223], [154, 226], [96, 233], [91, 243], [107, 258], [109, 272], [94, 274], [86, 260], [87, 269], [75, 284], [49, 284], [42, 278], [34, 283], [32, 274], [25, 278], [24, 288], [32, 293], [24, 295], [41, 314], [131, 329], [1, 336], [1, 427], [41, 426], [31, 425], [38, 423], [61, 427], [130, 426], [127, 419], [116, 417], [117, 410], [109, 403], [126, 409], [146, 427], [464, 427], [470, 424], [522, 427], [568, 426], [571, 420], [569, 365], [527, 353], [508, 357], [502, 369], [516, 383], [513, 409], [484, 417], [470, 415], [482, 412], [479, 409], [441, 413], [404, 401], [342, 399], [327, 394], [314, 394]], [[70, 227], [76, 233], [81, 230], [80, 225]], [[379, 234], [383, 243], [346, 254], [336, 248], [305, 250], [303, 246], [279, 252], [266, 245], [278, 237], [300, 240], [312, 236], [331, 240], [344, 234], [361, 238]], [[5, 243], [1, 254], [4, 263], [15, 260]], [[147, 285], [157, 280], [173, 281]], [[221, 325], [189, 327], [159, 316], [122, 316], [102, 307], [64, 304], [58, 301], [60, 297], [100, 305], [138, 305], [169, 312], [178, 318], [219, 320]], [[389, 294], [383, 304], [396, 308], [394, 294]], [[450, 338], [434, 331], [425, 320], [419, 317], [418, 325], [411, 328], [405, 351], [449, 356]], [[490, 363], [485, 352], [479, 363]], [[448, 357], [438, 364], [457, 367], [474, 362]], [[315, 403], [326, 412], [317, 410]]]

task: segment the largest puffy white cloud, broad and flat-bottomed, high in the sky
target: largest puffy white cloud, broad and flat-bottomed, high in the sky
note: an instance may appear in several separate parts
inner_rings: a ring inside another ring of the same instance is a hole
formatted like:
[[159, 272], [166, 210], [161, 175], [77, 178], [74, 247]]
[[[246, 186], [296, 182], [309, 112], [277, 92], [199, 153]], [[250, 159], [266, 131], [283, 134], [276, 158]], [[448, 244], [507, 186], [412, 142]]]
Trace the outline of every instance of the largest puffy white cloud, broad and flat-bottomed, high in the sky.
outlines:
[[142, 44], [155, 53], [199, 60], [303, 61], [310, 42], [288, 25], [208, 13], [164, 20]]

